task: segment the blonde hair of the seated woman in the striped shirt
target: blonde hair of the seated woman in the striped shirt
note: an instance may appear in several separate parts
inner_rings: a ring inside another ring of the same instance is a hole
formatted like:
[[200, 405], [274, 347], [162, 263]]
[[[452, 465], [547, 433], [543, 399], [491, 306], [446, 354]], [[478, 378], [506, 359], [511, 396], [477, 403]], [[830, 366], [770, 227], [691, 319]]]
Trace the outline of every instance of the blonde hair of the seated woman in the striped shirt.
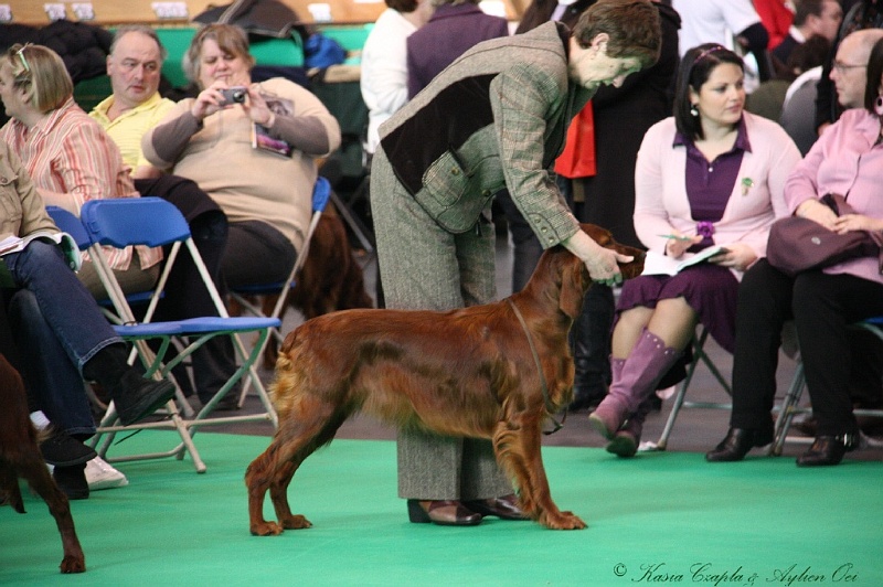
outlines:
[[43, 45], [12, 45], [0, 57], [12, 70], [13, 85], [24, 102], [42, 114], [58, 108], [74, 94], [74, 82], [57, 53]]

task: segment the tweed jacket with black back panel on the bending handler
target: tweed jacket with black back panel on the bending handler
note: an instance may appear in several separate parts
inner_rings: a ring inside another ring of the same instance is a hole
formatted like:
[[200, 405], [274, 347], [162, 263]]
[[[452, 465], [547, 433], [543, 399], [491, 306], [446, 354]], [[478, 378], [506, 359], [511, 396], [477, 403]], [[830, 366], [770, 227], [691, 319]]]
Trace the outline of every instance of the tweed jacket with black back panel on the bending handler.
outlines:
[[508, 188], [544, 247], [578, 230], [549, 169], [592, 90], [567, 75], [566, 26], [479, 43], [380, 128], [402, 185], [444, 230], [475, 227]]

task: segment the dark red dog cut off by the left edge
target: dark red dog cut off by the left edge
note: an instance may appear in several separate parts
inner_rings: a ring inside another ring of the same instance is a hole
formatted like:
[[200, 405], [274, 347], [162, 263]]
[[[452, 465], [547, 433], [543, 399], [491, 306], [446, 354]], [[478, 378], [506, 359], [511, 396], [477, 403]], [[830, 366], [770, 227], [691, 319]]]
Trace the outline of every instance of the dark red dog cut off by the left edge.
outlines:
[[21, 376], [0, 354], [0, 505], [9, 504], [17, 512], [24, 513], [19, 477], [43, 498], [55, 519], [64, 546], [62, 573], [86, 570], [86, 558], [76, 537], [67, 495], [52, 479], [40, 453], [36, 430], [28, 416], [28, 398]]

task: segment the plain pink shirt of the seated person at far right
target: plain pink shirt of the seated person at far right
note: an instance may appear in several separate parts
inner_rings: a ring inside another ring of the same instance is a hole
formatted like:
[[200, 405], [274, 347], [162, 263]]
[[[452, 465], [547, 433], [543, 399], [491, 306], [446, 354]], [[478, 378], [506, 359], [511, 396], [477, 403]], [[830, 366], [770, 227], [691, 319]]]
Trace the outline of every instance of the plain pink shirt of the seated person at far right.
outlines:
[[[859, 214], [883, 218], [883, 145], [880, 119], [864, 108], [843, 113], [828, 127], [785, 184], [791, 212], [810, 198], [839, 193]], [[876, 257], [832, 265], [827, 274], [849, 274], [883, 284]]]

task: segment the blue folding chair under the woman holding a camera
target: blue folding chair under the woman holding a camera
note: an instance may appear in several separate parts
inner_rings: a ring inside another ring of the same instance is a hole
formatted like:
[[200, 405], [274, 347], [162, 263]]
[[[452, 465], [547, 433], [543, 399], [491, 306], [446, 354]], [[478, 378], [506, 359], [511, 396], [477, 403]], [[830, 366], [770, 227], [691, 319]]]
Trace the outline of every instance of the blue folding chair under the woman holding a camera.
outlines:
[[[297, 285], [297, 276], [300, 273], [300, 269], [304, 267], [304, 264], [307, 263], [307, 255], [309, 255], [312, 234], [316, 232], [316, 226], [319, 225], [319, 220], [321, 218], [330, 198], [331, 184], [326, 178], [319, 175], [312, 186], [312, 216], [310, 217], [310, 224], [307, 228], [307, 235], [304, 238], [304, 250], [298, 254], [297, 260], [295, 260], [295, 265], [291, 267], [291, 271], [288, 274], [288, 278], [285, 281], [242, 286], [230, 292], [230, 296], [236, 300], [248, 313], [256, 317], [276, 318], [281, 323], [288, 295]], [[276, 306], [273, 308], [273, 312], [270, 312], [269, 316], [265, 316], [260, 309], [260, 306], [253, 302], [249, 297], [269, 295], [278, 295], [278, 299], [276, 300]], [[275, 338], [279, 344], [283, 343], [284, 337], [280, 328], [272, 329], [270, 335]], [[264, 346], [266, 346], [266, 342], [262, 345], [260, 352], [264, 351]], [[247, 393], [246, 388], [243, 389], [243, 395], [245, 395], [245, 393]]]

